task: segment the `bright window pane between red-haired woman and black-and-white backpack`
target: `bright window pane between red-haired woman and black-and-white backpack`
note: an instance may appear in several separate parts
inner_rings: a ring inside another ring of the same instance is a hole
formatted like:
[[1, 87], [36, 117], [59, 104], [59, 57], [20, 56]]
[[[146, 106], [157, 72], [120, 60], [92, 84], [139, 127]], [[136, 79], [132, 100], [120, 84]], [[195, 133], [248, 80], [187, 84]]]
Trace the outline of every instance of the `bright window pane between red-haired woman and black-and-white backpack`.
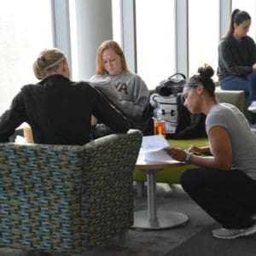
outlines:
[[176, 69], [174, 0], [146, 2], [136, 1], [137, 73], [153, 89]]

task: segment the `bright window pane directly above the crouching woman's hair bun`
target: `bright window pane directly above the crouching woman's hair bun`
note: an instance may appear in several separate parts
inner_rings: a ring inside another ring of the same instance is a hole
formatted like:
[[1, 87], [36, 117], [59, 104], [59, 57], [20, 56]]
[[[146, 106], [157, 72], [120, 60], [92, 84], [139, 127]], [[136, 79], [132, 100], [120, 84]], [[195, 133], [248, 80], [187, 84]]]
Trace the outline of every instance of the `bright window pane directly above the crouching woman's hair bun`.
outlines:
[[218, 1], [189, 1], [189, 76], [207, 63], [218, 67]]

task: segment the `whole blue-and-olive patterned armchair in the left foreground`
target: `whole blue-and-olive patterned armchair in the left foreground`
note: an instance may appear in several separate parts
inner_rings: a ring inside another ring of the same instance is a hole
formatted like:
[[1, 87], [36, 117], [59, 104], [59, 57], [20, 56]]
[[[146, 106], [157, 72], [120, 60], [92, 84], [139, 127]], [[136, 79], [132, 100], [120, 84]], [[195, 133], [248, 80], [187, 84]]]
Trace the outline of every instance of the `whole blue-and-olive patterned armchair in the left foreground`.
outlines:
[[133, 224], [142, 133], [84, 146], [0, 143], [0, 247], [81, 253]]

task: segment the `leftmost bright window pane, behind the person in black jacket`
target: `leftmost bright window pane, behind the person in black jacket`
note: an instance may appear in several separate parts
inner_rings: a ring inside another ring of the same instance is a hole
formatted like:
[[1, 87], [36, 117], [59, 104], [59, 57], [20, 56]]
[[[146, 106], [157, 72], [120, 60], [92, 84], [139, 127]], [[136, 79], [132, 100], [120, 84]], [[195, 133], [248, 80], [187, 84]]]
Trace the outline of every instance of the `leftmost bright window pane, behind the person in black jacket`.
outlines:
[[32, 63], [53, 47], [50, 0], [0, 1], [0, 113], [24, 84], [37, 83]]

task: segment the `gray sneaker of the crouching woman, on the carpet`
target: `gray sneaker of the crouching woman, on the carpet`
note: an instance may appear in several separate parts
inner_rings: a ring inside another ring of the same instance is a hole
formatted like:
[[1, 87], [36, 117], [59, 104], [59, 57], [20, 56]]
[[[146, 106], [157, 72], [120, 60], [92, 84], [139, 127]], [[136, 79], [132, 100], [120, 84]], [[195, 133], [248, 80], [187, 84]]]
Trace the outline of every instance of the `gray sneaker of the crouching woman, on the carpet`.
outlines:
[[222, 239], [234, 239], [240, 236], [249, 236], [256, 232], [256, 224], [252, 227], [243, 230], [229, 230], [220, 228], [217, 230], [212, 230], [212, 236]]

